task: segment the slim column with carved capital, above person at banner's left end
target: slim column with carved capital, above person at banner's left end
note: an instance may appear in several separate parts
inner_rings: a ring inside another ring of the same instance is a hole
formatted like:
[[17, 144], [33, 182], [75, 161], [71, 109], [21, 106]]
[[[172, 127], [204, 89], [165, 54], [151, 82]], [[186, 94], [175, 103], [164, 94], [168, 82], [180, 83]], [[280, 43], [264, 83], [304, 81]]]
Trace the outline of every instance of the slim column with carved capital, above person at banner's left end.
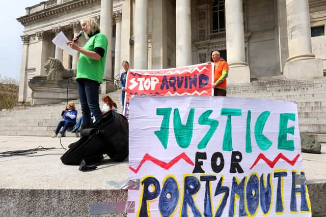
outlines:
[[121, 59], [120, 59], [120, 50], [121, 50], [121, 18], [122, 18], [122, 11], [116, 11], [114, 13], [114, 19], [116, 21], [116, 49], [115, 49], [115, 59], [114, 59], [114, 78], [120, 79], [120, 66], [121, 66]]

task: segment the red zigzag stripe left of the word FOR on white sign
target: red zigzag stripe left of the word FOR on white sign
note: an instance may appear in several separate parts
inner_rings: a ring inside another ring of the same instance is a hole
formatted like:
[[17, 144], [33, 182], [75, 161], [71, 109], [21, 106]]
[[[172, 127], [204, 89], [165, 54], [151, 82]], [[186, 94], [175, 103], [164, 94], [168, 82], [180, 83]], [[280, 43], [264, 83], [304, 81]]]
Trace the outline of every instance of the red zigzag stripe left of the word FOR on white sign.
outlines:
[[160, 161], [157, 158], [154, 158], [152, 156], [150, 156], [149, 153], [146, 153], [143, 157], [143, 160], [141, 161], [141, 163], [138, 165], [137, 169], [132, 168], [131, 166], [129, 166], [129, 169], [134, 172], [134, 173], [138, 173], [138, 171], [141, 169], [142, 165], [146, 162], [146, 161], [151, 161], [154, 164], [158, 165], [159, 167], [168, 170], [170, 169], [173, 165], [175, 165], [178, 161], [180, 161], [181, 159], [183, 159], [185, 162], [187, 162], [188, 164], [194, 166], [194, 162], [189, 159], [189, 157], [187, 156], [187, 154], [185, 154], [184, 152], [180, 153], [177, 157], [175, 157], [174, 159], [172, 159], [169, 163], [166, 163], [164, 161]]

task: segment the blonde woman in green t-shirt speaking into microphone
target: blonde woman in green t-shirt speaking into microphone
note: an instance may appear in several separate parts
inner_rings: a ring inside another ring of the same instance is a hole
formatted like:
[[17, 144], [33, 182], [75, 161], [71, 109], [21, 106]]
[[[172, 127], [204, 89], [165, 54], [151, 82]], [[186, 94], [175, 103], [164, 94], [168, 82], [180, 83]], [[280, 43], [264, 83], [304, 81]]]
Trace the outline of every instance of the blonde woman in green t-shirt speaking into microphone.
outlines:
[[98, 90], [100, 83], [103, 82], [108, 42], [105, 35], [100, 33], [99, 25], [93, 18], [84, 18], [80, 21], [80, 25], [86, 39], [88, 39], [85, 46], [79, 47], [75, 43], [78, 40], [77, 37], [66, 44], [79, 52], [76, 81], [78, 83], [78, 95], [82, 108], [83, 130], [91, 124], [91, 111], [97, 120], [102, 115], [99, 106]]

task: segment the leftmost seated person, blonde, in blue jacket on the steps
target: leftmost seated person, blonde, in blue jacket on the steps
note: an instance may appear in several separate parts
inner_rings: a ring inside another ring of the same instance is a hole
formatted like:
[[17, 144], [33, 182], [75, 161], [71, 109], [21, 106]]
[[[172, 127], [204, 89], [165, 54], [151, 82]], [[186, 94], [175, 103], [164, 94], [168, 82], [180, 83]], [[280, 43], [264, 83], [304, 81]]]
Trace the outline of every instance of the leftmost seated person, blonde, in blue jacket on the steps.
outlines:
[[[67, 107], [68, 108], [62, 110], [61, 118], [63, 118], [63, 120], [58, 123], [56, 131], [51, 137], [64, 137], [66, 130], [76, 124], [77, 110], [75, 109], [75, 104], [73, 102], [68, 102]], [[59, 133], [62, 127], [63, 129], [61, 133]]]

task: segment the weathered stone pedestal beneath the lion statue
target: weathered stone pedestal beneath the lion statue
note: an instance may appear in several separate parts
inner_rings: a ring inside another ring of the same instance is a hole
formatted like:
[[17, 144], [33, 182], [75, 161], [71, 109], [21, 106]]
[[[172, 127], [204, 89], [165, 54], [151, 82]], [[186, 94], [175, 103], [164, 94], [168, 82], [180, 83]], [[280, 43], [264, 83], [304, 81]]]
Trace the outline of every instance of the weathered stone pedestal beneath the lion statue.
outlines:
[[46, 105], [78, 99], [77, 82], [69, 80], [48, 81], [46, 76], [35, 76], [29, 81], [32, 89], [31, 105]]

